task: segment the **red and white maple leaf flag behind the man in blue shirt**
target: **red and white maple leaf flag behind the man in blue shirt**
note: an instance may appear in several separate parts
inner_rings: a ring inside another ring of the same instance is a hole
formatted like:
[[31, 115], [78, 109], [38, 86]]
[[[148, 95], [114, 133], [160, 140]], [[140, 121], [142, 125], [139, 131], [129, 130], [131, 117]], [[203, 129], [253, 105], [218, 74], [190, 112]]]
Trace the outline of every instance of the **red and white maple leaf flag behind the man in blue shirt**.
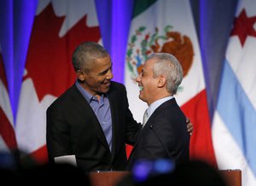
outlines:
[[71, 61], [75, 47], [100, 39], [93, 0], [38, 1], [16, 117], [21, 152], [47, 162], [46, 109], [76, 79]]

